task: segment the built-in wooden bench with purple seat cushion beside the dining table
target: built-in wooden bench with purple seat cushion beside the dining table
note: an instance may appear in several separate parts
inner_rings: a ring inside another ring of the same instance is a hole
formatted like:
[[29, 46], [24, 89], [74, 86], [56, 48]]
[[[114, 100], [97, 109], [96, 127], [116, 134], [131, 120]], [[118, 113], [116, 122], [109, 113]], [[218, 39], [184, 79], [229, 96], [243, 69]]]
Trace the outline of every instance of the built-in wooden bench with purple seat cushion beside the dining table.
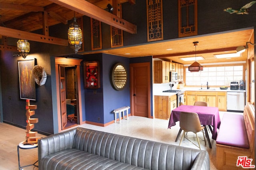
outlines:
[[218, 170], [242, 169], [241, 166], [236, 166], [238, 156], [247, 156], [252, 159], [252, 165], [255, 165], [254, 114], [254, 107], [247, 104], [243, 115], [232, 113], [223, 115], [216, 139]]

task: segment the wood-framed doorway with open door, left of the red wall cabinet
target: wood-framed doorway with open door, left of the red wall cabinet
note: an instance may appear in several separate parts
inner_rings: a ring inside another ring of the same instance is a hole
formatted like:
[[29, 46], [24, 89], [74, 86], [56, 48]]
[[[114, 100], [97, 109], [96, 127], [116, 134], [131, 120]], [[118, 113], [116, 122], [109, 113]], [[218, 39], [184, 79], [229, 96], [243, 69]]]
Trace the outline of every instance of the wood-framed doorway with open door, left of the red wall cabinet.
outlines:
[[[82, 123], [80, 63], [82, 59], [55, 58], [58, 131]], [[72, 113], [70, 113], [72, 110]]]

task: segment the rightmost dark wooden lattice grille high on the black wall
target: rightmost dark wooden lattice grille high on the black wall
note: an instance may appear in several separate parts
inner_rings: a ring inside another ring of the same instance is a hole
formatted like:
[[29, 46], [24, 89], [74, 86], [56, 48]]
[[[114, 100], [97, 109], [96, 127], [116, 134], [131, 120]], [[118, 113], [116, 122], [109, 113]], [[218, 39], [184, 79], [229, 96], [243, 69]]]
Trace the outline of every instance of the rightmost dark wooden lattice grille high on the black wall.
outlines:
[[178, 0], [179, 37], [197, 35], [197, 0]]

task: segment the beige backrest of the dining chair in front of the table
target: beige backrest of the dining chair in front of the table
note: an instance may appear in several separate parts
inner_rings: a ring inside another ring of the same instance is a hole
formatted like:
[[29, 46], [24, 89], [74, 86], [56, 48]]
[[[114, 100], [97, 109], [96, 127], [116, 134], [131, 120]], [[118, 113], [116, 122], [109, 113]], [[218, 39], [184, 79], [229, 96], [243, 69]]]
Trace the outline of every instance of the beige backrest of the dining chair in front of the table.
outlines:
[[180, 129], [187, 132], [200, 132], [202, 130], [197, 113], [184, 112], [180, 113]]

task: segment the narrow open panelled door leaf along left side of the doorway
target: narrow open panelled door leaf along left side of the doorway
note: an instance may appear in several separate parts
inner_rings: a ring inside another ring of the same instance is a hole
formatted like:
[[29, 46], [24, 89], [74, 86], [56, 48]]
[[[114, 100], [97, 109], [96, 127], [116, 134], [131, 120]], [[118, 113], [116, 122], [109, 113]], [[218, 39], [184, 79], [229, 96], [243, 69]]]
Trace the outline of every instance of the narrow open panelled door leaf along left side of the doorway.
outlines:
[[66, 111], [66, 82], [65, 82], [65, 68], [59, 66], [60, 75], [60, 113], [61, 113], [61, 127], [67, 124], [67, 111]]

